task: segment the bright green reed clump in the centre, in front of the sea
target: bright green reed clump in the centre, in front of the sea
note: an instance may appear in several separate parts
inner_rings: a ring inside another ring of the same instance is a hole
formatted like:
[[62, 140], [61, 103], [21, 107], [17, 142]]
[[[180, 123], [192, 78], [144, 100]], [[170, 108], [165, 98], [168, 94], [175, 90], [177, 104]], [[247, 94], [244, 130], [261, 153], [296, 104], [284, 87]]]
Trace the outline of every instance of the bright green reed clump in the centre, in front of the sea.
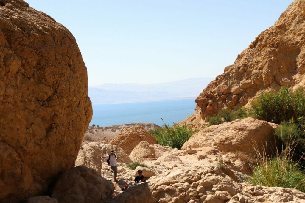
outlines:
[[[197, 131], [196, 131], [197, 132]], [[158, 144], [181, 149], [182, 145], [193, 135], [191, 127], [164, 124], [162, 128], [149, 130], [149, 134], [156, 138]]]

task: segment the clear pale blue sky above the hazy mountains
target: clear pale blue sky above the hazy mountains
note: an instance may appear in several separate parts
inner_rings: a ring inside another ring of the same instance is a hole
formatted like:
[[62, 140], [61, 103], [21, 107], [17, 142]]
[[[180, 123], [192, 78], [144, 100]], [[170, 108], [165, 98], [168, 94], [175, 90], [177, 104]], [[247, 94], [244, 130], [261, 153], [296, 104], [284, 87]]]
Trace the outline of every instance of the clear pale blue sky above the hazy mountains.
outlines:
[[88, 85], [216, 77], [292, 0], [26, 0], [66, 26]]

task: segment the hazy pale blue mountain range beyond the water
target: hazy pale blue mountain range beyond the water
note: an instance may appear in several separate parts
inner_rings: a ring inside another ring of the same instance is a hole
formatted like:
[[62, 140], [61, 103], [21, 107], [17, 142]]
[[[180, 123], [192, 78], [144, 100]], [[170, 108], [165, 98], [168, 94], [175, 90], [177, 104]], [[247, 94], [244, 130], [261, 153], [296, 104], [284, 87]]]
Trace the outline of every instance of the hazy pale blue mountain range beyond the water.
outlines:
[[105, 83], [89, 86], [88, 94], [92, 104], [195, 98], [212, 80], [201, 77], [149, 85]]

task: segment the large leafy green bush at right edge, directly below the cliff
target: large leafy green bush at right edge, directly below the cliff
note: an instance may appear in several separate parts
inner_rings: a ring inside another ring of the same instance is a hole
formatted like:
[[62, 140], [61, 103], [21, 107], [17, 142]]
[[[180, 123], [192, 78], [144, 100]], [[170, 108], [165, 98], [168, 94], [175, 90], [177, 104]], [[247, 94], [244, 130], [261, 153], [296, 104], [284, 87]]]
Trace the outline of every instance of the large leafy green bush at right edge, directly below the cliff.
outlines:
[[262, 91], [258, 97], [250, 102], [249, 113], [260, 120], [280, 124], [292, 117], [298, 119], [305, 114], [305, 95], [303, 89], [295, 92], [288, 87], [269, 92]]

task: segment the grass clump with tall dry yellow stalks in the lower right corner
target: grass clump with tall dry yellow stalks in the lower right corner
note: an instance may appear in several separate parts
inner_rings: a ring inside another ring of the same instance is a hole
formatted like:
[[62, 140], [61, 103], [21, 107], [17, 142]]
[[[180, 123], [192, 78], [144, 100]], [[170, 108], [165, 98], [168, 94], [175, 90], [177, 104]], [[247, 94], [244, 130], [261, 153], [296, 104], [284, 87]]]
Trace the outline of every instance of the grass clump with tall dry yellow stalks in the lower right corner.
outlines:
[[253, 174], [246, 181], [254, 185], [291, 187], [305, 192], [304, 171], [299, 166], [299, 161], [293, 161], [291, 156], [294, 146], [290, 140], [286, 148], [273, 158], [267, 156], [266, 151], [263, 155], [258, 153], [258, 165], [253, 167]]

